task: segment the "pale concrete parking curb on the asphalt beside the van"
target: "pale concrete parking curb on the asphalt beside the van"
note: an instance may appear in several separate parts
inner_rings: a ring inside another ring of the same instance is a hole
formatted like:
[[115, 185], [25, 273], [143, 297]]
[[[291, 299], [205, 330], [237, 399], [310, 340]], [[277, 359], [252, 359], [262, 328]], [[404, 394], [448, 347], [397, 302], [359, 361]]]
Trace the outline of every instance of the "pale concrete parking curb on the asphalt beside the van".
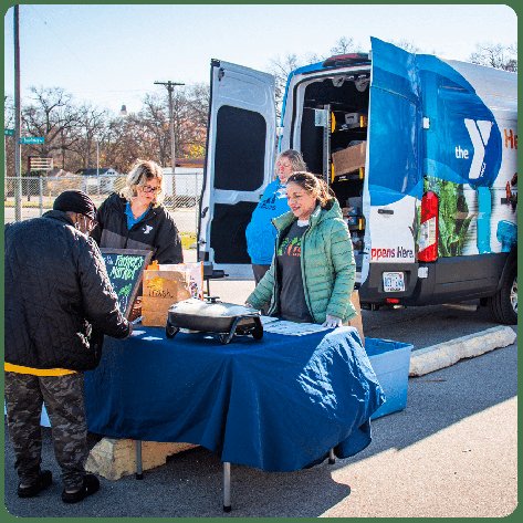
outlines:
[[475, 334], [415, 351], [410, 356], [409, 376], [423, 376], [440, 368], [450, 367], [463, 358], [472, 358], [494, 348], [512, 345], [514, 331], [506, 326], [488, 328]]

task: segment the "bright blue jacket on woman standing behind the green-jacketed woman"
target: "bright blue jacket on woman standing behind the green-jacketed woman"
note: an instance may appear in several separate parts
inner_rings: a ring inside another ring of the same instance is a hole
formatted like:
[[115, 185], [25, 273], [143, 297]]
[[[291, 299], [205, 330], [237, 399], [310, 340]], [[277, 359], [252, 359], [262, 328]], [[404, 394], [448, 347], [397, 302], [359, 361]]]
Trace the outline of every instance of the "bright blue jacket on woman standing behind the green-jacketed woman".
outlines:
[[271, 220], [289, 211], [285, 186], [276, 178], [263, 191], [247, 226], [247, 252], [257, 265], [270, 265], [274, 254], [276, 228]]

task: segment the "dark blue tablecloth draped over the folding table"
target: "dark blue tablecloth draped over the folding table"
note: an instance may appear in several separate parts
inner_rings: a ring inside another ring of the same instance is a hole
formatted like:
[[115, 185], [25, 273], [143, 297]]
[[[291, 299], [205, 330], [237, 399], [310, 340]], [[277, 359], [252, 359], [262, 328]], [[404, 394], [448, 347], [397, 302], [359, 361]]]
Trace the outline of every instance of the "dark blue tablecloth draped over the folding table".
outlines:
[[114, 438], [197, 443], [223, 462], [292, 471], [370, 442], [384, 394], [356, 331], [237, 336], [137, 327], [105, 339], [85, 374], [88, 428]]

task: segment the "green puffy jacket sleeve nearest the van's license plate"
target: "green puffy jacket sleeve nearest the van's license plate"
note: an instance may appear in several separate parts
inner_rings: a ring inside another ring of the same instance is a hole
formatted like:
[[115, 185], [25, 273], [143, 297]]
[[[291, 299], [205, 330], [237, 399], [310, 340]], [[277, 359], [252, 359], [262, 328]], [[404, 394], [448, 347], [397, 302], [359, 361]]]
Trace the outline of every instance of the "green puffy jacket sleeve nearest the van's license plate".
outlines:
[[335, 220], [331, 229], [331, 259], [334, 268], [334, 287], [326, 314], [348, 320], [356, 315], [351, 294], [356, 280], [353, 242], [347, 226]]

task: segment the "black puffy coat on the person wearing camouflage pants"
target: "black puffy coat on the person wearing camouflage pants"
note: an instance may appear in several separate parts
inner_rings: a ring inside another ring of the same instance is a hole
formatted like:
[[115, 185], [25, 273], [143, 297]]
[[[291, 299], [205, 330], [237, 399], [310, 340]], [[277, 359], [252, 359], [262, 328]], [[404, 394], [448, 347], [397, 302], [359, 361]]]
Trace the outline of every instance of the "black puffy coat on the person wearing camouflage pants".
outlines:
[[4, 250], [6, 362], [86, 370], [100, 360], [101, 333], [128, 335], [96, 243], [65, 212], [9, 223]]

